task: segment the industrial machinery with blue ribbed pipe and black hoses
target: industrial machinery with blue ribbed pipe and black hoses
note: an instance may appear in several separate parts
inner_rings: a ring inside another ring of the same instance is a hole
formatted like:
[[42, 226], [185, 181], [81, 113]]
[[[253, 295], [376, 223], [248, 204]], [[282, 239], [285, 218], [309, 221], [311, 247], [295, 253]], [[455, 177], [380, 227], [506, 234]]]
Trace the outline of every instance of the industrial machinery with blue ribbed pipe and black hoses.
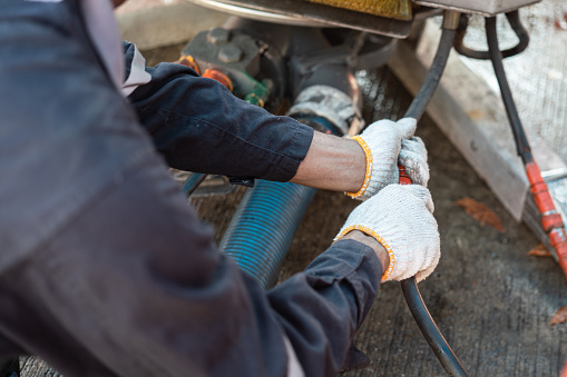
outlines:
[[[565, 226], [530, 153], [502, 67], [502, 57], [521, 52], [529, 42], [518, 10], [539, 0], [188, 1], [234, 17], [222, 28], [197, 34], [183, 49], [179, 63], [221, 81], [251, 103], [339, 136], [356, 135], [365, 125], [354, 71], [385, 65], [400, 39], [419, 33], [426, 18], [443, 14], [436, 59], [407, 116], [423, 115], [452, 47], [468, 57], [491, 60], [518, 153], [526, 165], [531, 194], [541, 214], [541, 228], [567, 275]], [[495, 20], [499, 13], [506, 13], [519, 39], [516, 47], [506, 51], [498, 47]], [[473, 51], [463, 46], [469, 14], [486, 17], [489, 51]], [[190, 195], [204, 180], [204, 175], [192, 173], [183, 189]], [[267, 288], [275, 282], [315, 190], [234, 177], [231, 182], [251, 189], [219, 248]], [[403, 281], [402, 289], [421, 331], [448, 374], [467, 376], [424, 307], [414, 279]], [[16, 375], [12, 365], [10, 361], [4, 369], [0, 368], [0, 375]]]

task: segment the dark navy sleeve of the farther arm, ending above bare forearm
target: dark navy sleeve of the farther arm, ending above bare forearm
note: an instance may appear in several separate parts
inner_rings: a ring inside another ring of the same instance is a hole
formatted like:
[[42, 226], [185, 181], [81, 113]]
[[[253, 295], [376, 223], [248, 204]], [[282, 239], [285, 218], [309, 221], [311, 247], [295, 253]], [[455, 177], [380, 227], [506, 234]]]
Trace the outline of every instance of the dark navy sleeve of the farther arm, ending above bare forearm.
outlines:
[[182, 65], [146, 67], [147, 81], [136, 51], [125, 43], [123, 91], [170, 167], [274, 181], [295, 175], [313, 138], [310, 127], [250, 105]]

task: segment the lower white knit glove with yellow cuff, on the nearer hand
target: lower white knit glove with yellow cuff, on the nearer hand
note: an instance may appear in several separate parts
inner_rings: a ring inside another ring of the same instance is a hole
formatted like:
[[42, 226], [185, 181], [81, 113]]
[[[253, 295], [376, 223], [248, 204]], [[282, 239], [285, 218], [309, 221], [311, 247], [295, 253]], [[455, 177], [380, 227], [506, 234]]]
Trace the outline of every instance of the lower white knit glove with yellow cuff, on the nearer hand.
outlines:
[[419, 185], [389, 185], [356, 207], [335, 239], [351, 230], [374, 237], [390, 265], [382, 281], [427, 278], [437, 267], [440, 240], [429, 190]]

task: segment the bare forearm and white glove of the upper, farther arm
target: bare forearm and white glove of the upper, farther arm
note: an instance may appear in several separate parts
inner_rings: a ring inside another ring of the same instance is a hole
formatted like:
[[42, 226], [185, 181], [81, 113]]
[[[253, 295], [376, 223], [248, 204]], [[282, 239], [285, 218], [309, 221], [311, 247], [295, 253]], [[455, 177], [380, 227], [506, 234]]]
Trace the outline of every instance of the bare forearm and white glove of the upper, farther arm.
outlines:
[[398, 183], [402, 165], [414, 183], [427, 186], [427, 150], [414, 131], [416, 120], [405, 118], [375, 121], [354, 139], [315, 132], [291, 181], [365, 200]]

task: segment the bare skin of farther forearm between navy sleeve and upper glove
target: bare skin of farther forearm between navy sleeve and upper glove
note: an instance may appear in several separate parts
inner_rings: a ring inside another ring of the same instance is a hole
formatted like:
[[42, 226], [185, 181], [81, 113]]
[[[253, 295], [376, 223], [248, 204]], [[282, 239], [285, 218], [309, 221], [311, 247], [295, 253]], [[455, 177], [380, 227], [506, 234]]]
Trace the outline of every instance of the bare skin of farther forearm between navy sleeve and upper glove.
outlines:
[[365, 171], [364, 151], [356, 141], [315, 132], [307, 155], [291, 181], [319, 189], [356, 192]]

